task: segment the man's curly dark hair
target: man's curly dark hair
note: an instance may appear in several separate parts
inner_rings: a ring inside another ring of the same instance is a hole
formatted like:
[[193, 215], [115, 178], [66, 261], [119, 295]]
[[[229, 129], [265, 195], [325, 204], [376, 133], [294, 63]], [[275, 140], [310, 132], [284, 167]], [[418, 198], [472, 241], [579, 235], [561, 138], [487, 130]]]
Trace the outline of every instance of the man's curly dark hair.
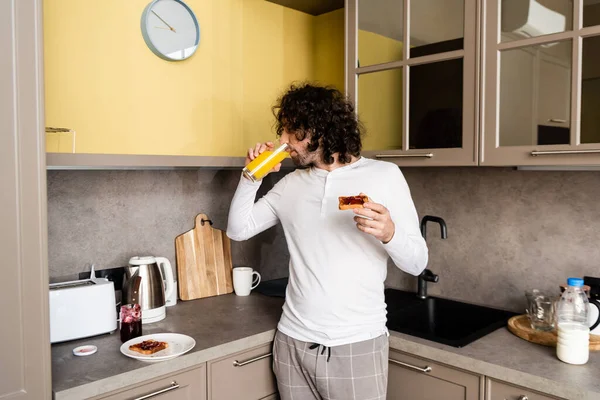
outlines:
[[307, 150], [321, 147], [325, 164], [333, 164], [335, 153], [342, 164], [360, 155], [363, 127], [352, 103], [339, 90], [310, 83], [291, 85], [272, 111], [277, 137], [284, 129], [299, 141], [308, 135]]

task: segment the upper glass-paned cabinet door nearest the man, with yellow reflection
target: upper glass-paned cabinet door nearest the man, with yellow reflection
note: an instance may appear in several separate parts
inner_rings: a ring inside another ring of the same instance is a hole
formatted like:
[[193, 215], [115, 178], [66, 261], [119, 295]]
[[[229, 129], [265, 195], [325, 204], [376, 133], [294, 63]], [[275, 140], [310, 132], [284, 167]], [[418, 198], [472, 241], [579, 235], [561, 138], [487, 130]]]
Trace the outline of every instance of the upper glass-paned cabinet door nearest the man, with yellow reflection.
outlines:
[[478, 2], [349, 0], [346, 91], [367, 157], [476, 165]]

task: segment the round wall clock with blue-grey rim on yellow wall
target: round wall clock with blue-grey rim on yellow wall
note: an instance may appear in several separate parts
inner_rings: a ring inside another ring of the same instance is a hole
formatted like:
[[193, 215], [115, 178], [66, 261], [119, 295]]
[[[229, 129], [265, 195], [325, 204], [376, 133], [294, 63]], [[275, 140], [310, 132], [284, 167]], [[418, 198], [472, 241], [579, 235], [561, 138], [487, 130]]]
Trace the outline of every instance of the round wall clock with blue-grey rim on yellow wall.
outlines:
[[200, 25], [192, 9], [181, 0], [154, 0], [142, 13], [142, 36], [154, 54], [181, 61], [196, 52]]

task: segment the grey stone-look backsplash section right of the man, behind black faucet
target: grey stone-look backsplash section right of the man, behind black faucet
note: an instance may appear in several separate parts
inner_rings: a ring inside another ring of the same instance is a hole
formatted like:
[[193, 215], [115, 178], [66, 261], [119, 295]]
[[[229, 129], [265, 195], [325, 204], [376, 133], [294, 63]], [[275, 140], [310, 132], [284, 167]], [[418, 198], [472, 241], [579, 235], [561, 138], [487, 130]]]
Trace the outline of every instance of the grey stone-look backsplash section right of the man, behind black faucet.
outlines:
[[[405, 168], [427, 229], [429, 293], [523, 312], [524, 291], [559, 293], [569, 276], [600, 276], [600, 172]], [[416, 278], [388, 268], [389, 286]]]

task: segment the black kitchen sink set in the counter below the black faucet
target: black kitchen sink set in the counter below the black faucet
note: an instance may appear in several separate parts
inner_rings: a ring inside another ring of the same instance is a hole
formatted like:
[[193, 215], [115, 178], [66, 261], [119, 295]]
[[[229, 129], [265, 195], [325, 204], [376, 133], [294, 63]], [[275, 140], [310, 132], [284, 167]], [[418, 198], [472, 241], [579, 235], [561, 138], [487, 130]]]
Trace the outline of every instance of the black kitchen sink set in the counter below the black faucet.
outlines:
[[506, 326], [516, 313], [435, 296], [421, 300], [413, 292], [385, 290], [390, 330], [454, 347]]

